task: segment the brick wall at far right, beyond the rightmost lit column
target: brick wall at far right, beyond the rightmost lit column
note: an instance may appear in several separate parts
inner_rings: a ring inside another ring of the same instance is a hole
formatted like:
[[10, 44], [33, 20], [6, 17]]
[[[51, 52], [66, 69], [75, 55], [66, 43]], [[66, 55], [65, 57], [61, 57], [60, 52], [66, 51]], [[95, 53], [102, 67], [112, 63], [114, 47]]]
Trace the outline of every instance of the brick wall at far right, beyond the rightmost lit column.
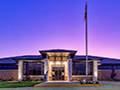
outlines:
[[[112, 81], [111, 79], [112, 70], [98, 70], [98, 80], [99, 81]], [[117, 76], [115, 78], [120, 78], [120, 70], [115, 70]]]

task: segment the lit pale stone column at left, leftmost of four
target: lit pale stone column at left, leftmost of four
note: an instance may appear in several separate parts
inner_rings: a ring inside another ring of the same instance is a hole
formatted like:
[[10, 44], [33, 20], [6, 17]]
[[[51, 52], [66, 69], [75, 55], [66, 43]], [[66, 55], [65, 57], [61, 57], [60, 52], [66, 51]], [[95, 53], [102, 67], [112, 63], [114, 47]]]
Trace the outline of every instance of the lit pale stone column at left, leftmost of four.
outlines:
[[18, 81], [22, 81], [23, 79], [23, 61], [18, 61]]

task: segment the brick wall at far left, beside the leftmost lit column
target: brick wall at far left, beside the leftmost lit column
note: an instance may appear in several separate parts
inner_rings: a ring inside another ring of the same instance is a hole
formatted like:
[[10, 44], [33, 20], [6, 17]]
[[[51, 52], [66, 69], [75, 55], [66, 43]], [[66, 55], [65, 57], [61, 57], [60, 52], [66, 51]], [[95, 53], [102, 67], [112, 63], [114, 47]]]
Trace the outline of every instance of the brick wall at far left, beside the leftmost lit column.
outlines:
[[13, 77], [13, 80], [18, 80], [18, 70], [0, 70], [0, 78], [9, 79]]

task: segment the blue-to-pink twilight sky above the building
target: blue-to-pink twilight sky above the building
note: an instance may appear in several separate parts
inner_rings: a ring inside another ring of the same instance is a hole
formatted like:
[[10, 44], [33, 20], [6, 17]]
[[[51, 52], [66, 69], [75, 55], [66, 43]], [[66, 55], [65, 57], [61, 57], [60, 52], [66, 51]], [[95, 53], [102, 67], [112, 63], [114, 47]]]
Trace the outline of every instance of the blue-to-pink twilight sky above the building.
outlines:
[[77, 50], [120, 59], [120, 0], [0, 0], [0, 58]]

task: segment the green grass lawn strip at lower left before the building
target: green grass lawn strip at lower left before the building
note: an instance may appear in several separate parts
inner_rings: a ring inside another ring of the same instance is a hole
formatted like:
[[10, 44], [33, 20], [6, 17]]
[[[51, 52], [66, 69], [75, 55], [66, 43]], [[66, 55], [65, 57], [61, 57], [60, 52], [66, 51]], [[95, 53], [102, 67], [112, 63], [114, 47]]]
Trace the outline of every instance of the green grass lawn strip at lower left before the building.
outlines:
[[0, 82], [0, 88], [12, 88], [12, 87], [31, 87], [39, 82]]

